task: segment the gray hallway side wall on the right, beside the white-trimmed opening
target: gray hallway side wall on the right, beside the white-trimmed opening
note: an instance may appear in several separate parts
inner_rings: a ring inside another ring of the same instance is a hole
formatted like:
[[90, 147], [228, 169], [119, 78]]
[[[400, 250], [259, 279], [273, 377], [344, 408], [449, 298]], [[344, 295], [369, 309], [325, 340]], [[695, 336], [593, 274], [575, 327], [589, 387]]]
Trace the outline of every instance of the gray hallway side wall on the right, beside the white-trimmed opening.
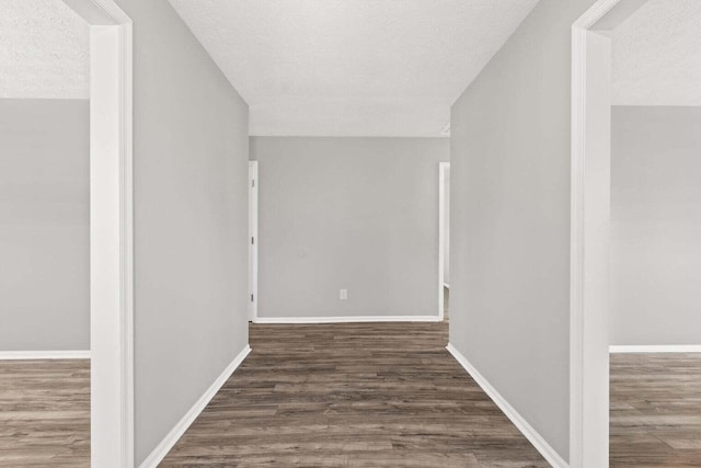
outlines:
[[450, 342], [566, 460], [571, 26], [541, 0], [452, 107]]

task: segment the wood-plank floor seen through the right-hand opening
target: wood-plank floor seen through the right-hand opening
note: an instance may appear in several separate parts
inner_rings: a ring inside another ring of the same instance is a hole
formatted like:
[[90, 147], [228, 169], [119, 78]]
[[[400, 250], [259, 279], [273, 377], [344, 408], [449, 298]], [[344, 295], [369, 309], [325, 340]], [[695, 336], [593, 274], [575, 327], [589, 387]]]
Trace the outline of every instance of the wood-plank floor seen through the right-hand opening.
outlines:
[[701, 466], [701, 354], [611, 355], [611, 467]]

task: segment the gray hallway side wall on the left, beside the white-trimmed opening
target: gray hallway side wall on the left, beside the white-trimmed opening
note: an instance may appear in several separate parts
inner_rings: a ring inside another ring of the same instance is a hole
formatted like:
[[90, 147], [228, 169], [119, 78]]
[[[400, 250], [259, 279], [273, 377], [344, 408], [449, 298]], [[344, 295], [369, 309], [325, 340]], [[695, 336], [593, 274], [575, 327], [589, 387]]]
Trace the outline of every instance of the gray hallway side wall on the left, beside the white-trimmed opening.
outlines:
[[136, 463], [248, 344], [248, 105], [165, 0], [134, 20]]

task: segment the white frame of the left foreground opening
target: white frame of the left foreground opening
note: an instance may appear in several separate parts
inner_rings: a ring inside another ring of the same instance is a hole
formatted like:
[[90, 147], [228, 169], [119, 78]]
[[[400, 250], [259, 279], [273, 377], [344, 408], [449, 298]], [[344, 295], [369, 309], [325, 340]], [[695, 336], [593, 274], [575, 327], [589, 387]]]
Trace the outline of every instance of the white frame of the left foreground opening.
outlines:
[[64, 0], [90, 25], [91, 466], [134, 456], [133, 23], [114, 0]]

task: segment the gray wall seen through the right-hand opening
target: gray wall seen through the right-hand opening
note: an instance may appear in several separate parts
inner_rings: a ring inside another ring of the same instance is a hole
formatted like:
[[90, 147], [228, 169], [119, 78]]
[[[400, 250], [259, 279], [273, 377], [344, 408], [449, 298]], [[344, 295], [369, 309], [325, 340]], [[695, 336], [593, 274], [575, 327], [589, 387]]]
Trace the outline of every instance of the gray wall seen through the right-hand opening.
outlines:
[[612, 112], [611, 344], [701, 344], [701, 107]]

